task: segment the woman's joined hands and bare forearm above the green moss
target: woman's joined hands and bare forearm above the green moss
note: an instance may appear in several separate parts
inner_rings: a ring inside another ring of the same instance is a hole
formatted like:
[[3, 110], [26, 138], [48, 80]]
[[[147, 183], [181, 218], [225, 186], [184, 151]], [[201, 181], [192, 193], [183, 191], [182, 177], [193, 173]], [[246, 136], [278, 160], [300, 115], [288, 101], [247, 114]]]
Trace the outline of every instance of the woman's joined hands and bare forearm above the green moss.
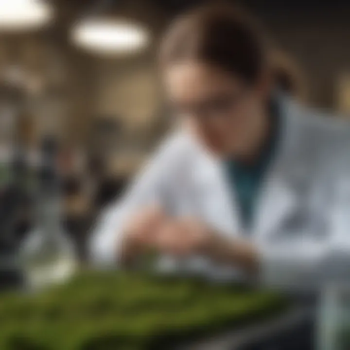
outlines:
[[253, 244], [228, 238], [195, 218], [169, 217], [159, 208], [142, 210], [124, 228], [122, 260], [133, 261], [147, 249], [179, 257], [202, 255], [216, 262], [258, 271], [258, 253]]

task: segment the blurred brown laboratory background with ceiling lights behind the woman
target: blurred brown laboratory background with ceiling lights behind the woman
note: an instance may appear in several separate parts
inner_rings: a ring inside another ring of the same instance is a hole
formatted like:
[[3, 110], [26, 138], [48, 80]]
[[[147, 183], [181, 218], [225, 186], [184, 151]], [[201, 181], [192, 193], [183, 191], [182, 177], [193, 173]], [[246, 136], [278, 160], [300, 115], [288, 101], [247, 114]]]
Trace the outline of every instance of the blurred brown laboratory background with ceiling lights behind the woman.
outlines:
[[[64, 227], [86, 259], [95, 218], [171, 126], [158, 39], [172, 18], [200, 3], [0, 0], [0, 220], [7, 223], [9, 203], [30, 173], [23, 169], [38, 167], [49, 138]], [[305, 104], [350, 115], [350, 3], [238, 3], [273, 39], [280, 88]], [[29, 193], [16, 197], [21, 210], [11, 214], [19, 239], [35, 225]]]

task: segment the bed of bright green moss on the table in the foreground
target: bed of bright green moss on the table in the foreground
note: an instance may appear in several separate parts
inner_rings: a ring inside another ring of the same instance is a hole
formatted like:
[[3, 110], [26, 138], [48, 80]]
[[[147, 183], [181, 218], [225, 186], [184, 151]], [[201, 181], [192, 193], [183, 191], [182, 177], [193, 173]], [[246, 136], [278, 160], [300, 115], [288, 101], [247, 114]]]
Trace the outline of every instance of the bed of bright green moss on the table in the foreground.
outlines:
[[35, 295], [0, 296], [1, 350], [172, 349], [288, 307], [243, 286], [86, 272]]

